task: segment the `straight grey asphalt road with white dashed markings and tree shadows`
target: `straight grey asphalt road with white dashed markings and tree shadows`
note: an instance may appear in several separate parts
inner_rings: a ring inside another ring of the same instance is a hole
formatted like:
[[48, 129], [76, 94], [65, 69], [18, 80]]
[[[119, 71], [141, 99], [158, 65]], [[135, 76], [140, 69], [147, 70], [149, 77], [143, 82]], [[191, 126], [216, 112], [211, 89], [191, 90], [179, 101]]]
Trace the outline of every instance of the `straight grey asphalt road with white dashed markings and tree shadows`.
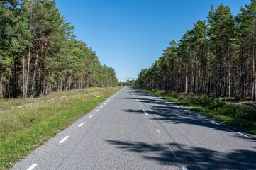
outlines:
[[126, 87], [13, 169], [256, 169], [256, 140]]

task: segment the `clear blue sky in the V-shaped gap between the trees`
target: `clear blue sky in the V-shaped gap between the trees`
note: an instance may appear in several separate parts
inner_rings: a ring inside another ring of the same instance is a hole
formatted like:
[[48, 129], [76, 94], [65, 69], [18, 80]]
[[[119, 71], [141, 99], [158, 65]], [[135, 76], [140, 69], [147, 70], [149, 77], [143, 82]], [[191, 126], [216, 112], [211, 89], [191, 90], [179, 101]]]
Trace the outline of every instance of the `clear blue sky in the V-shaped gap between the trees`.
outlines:
[[113, 67], [119, 81], [133, 79], [178, 41], [197, 20], [223, 3], [233, 16], [250, 0], [56, 0], [77, 39]]

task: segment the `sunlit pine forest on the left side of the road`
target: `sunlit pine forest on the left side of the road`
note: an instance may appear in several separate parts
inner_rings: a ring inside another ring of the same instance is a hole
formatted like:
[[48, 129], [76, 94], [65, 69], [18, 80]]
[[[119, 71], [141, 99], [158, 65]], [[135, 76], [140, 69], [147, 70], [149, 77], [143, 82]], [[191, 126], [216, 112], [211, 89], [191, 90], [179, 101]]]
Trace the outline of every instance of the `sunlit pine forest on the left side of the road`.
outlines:
[[0, 26], [1, 98], [118, 84], [114, 69], [76, 39], [55, 1], [2, 0]]

